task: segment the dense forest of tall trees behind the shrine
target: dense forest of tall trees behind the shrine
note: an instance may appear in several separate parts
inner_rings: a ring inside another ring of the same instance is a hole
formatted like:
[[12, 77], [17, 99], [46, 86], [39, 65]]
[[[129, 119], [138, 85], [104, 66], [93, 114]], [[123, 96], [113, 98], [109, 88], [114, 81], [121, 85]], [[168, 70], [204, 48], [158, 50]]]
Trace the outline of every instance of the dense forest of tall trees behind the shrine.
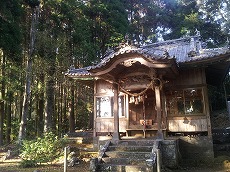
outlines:
[[[201, 34], [203, 47], [229, 46], [229, 0], [1, 0], [0, 146], [53, 131], [90, 129], [93, 87], [65, 78], [129, 42], [145, 45]], [[209, 87], [226, 108], [230, 77]]]

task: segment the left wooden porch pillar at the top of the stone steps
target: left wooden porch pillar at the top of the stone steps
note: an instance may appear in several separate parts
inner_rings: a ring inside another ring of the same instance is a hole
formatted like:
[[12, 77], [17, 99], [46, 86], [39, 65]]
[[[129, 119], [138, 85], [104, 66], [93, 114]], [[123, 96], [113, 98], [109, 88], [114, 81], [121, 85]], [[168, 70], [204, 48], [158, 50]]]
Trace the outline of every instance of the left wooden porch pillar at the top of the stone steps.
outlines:
[[114, 116], [114, 132], [113, 140], [120, 140], [119, 134], [119, 113], [118, 113], [118, 85], [113, 84], [114, 96], [113, 96], [113, 116]]

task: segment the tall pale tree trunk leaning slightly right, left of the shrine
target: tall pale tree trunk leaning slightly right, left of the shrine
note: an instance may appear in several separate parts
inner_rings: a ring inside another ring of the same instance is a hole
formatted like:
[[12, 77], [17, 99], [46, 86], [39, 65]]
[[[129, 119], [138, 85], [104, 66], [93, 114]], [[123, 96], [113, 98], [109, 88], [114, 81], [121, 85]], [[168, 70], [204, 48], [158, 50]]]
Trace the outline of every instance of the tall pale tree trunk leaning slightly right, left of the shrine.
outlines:
[[21, 141], [26, 136], [26, 123], [27, 123], [27, 116], [29, 113], [29, 105], [30, 105], [30, 98], [31, 98], [31, 81], [32, 81], [32, 64], [33, 64], [32, 56], [34, 53], [34, 42], [35, 42], [35, 32], [36, 32], [35, 26], [37, 23], [38, 13], [39, 13], [38, 7], [32, 8], [30, 45], [29, 45], [29, 54], [28, 54], [27, 69], [26, 69], [26, 84], [25, 84], [25, 93], [24, 93], [24, 100], [23, 100], [23, 112], [22, 112], [20, 129], [18, 134], [19, 144], [21, 144]]

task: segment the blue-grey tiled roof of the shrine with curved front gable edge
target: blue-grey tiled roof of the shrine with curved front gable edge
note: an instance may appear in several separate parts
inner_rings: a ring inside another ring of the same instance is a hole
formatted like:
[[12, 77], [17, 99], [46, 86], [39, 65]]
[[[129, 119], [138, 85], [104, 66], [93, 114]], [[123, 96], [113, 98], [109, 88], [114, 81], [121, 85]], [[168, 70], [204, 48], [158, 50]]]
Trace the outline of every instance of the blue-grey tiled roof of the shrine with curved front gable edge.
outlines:
[[211, 59], [213, 57], [230, 53], [230, 50], [227, 46], [222, 48], [203, 49], [199, 35], [162, 41], [141, 47], [123, 45], [118, 51], [108, 51], [97, 65], [81, 69], [70, 68], [66, 75], [89, 77], [91, 76], [90, 70], [101, 68], [116, 56], [129, 53], [137, 53], [145, 58], [151, 58], [154, 60], [173, 58], [176, 63], [183, 64]]

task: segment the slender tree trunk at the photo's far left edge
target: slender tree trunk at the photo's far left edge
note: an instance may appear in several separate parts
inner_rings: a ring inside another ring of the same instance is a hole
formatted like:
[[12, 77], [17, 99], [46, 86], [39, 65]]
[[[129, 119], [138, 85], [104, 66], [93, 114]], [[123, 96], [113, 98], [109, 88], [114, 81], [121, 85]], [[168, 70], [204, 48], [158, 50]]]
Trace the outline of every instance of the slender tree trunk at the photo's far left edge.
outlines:
[[[5, 76], [5, 55], [1, 51], [1, 76]], [[5, 114], [5, 81], [4, 79], [1, 81], [1, 95], [0, 95], [0, 146], [3, 145], [3, 121], [4, 121], [4, 114]]]

